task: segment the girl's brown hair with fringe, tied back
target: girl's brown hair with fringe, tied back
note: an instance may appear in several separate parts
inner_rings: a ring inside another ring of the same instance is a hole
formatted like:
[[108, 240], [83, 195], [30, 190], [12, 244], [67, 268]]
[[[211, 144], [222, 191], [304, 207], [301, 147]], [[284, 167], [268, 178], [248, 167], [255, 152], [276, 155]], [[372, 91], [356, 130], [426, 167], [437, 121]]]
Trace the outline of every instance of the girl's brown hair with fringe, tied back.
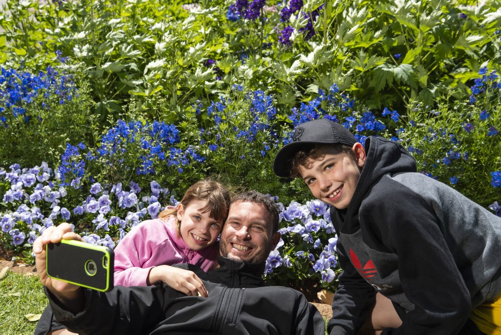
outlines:
[[[202, 211], [210, 211], [210, 217], [221, 224], [224, 224], [228, 216], [229, 203], [231, 196], [229, 190], [218, 182], [210, 179], [204, 179], [196, 182], [184, 193], [183, 199], [180, 204], [183, 208], [189, 205], [192, 201], [207, 200], [207, 206]], [[171, 215], [177, 215], [177, 206], [175, 208], [165, 209], [162, 211], [158, 218], [167, 220]], [[176, 220], [177, 234], [181, 236], [181, 222]]]

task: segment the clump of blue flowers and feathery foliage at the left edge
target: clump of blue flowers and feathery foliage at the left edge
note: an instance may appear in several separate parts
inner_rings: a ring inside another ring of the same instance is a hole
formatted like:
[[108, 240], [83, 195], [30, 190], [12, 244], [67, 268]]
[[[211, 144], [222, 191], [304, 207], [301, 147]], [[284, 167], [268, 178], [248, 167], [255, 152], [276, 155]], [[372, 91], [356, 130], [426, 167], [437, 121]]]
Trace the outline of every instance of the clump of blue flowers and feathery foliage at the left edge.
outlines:
[[0, 164], [56, 165], [67, 142], [94, 145], [97, 115], [81, 72], [60, 64], [33, 74], [2, 71], [0, 84]]

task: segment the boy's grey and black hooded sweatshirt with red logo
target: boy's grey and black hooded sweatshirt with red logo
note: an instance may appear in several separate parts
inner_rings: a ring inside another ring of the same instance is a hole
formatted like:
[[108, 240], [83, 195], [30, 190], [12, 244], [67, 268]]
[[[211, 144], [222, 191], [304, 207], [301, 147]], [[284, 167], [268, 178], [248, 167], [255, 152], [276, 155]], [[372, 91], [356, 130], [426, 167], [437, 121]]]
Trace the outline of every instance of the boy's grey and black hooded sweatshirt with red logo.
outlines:
[[464, 332], [471, 310], [501, 291], [501, 218], [416, 173], [396, 142], [371, 136], [365, 151], [348, 208], [331, 207], [344, 272], [330, 334], [356, 333], [376, 292], [402, 319], [385, 335]]

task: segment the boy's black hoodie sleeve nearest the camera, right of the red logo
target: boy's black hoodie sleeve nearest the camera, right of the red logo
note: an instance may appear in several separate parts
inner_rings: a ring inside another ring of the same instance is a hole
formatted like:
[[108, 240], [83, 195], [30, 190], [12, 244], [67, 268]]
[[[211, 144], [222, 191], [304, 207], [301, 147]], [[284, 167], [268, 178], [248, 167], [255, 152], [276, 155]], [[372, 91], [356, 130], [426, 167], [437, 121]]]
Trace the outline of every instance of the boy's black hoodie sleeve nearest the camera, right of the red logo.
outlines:
[[391, 201], [377, 201], [369, 212], [383, 244], [398, 256], [399, 279], [414, 307], [400, 327], [383, 334], [457, 333], [471, 312], [471, 299], [447, 242], [461, 246], [445, 240], [435, 211], [422, 197], [392, 192]]

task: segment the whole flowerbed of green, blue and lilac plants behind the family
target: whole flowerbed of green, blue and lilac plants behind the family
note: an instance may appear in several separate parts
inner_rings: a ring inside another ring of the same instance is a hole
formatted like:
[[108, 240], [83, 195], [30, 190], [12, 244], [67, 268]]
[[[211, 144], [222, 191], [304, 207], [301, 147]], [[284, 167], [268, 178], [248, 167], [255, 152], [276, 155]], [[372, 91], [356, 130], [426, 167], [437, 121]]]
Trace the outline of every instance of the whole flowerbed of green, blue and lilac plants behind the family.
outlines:
[[335, 291], [325, 204], [272, 172], [327, 117], [400, 141], [418, 171], [501, 216], [497, 0], [7, 0], [0, 243], [69, 222], [114, 247], [210, 176], [275, 199], [271, 284]]

